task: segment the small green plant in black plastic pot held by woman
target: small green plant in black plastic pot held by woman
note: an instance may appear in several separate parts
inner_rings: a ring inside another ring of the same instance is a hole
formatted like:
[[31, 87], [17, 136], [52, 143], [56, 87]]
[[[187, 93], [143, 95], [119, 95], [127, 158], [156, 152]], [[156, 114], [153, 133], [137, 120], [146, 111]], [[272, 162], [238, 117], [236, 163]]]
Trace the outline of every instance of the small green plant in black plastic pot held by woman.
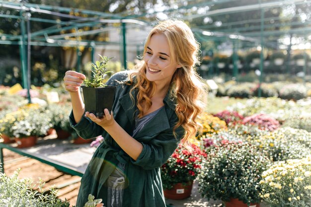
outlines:
[[105, 85], [104, 81], [108, 73], [111, 71], [106, 69], [107, 62], [111, 59], [101, 56], [101, 61], [91, 64], [93, 76], [84, 80], [82, 86], [85, 110], [93, 113], [96, 117], [103, 117], [104, 109], [109, 111], [112, 109], [114, 93], [116, 87]]

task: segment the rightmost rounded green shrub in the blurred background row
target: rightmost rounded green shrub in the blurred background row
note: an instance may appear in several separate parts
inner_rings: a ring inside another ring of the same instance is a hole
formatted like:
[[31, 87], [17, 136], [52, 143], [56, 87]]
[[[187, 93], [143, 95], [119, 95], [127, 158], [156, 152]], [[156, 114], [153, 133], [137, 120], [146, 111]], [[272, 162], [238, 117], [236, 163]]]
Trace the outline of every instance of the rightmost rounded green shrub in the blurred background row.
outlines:
[[279, 91], [279, 97], [287, 100], [299, 100], [307, 97], [307, 88], [303, 84], [288, 84]]

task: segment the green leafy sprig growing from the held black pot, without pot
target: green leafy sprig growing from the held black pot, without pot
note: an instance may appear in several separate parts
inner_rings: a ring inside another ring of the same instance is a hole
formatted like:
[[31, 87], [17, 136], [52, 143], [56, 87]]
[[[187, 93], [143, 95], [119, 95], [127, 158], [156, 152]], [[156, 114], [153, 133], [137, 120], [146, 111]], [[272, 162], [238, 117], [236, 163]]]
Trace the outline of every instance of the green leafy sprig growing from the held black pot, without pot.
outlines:
[[106, 56], [101, 56], [99, 55], [101, 58], [101, 62], [96, 61], [95, 64], [91, 64], [92, 67], [94, 68], [94, 70], [92, 70], [93, 76], [88, 79], [86, 78], [84, 80], [84, 84], [87, 87], [93, 87], [93, 88], [102, 88], [105, 87], [105, 83], [104, 80], [107, 76], [108, 73], [111, 73], [110, 70], [107, 70], [107, 62], [111, 59], [108, 58]]

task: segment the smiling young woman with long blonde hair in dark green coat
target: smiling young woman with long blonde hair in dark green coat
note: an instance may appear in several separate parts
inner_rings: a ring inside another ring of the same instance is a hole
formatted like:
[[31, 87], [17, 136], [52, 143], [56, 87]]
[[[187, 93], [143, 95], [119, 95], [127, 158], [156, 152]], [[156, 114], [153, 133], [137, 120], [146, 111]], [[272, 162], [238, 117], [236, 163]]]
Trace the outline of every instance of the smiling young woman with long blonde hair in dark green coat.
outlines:
[[194, 69], [198, 51], [184, 22], [159, 22], [147, 38], [144, 63], [108, 80], [117, 89], [112, 112], [105, 109], [102, 119], [84, 111], [79, 86], [85, 76], [66, 72], [72, 127], [82, 138], [104, 138], [81, 179], [77, 207], [89, 194], [105, 207], [165, 207], [160, 167], [180, 141], [195, 136], [204, 107], [206, 91]]

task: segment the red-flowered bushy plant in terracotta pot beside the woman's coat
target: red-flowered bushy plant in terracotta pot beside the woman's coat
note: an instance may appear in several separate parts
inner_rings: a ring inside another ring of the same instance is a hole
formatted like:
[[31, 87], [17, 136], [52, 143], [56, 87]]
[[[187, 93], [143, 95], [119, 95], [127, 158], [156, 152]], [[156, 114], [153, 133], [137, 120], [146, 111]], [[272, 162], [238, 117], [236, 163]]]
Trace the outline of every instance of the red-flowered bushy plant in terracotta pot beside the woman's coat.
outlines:
[[174, 153], [161, 166], [164, 196], [167, 199], [185, 199], [191, 195], [192, 184], [201, 170], [206, 154], [192, 144], [192, 151], [179, 144]]

